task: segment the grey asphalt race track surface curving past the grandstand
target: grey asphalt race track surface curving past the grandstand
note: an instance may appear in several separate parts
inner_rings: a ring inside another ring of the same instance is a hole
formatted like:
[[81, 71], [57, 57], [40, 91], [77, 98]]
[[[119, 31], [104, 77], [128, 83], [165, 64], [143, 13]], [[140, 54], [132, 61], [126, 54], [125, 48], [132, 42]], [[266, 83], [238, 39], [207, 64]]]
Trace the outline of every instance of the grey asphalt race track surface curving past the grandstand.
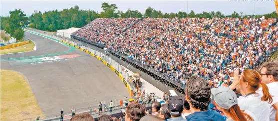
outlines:
[[[37, 46], [35, 51], [1, 55], [1, 59], [40, 56], [70, 49], [58, 42], [28, 32], [25, 32], [25, 36], [35, 42]], [[71, 107], [80, 109], [89, 107], [90, 104], [95, 107], [100, 101], [108, 104], [110, 100], [130, 98], [120, 78], [101, 61], [79, 49], [63, 55], [72, 54], [78, 57], [25, 65], [19, 64], [24, 59], [5, 60], [0, 64], [2, 70], [14, 70], [26, 76], [46, 117], [59, 116], [62, 109], [67, 113]], [[89, 108], [76, 112], [85, 110]]]

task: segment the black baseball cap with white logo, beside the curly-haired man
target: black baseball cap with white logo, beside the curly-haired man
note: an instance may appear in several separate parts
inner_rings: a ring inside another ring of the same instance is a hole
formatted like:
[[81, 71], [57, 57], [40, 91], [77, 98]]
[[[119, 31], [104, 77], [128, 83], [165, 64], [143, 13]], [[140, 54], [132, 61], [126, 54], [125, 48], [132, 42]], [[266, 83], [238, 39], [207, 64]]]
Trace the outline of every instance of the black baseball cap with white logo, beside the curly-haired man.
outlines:
[[184, 102], [181, 97], [172, 96], [168, 101], [168, 109], [172, 114], [181, 114], [184, 108]]

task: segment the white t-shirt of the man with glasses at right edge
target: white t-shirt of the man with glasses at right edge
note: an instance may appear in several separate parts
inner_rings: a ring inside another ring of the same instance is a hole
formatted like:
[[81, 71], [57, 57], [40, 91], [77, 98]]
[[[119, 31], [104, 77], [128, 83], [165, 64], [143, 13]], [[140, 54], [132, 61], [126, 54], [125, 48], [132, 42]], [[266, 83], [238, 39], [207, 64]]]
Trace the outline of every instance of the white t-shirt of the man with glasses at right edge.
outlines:
[[[272, 99], [272, 103], [269, 104], [270, 106], [270, 121], [275, 121], [275, 114], [276, 114], [276, 110], [273, 108], [272, 105], [274, 105], [275, 103], [278, 102], [278, 82], [273, 82], [273, 83], [269, 83], [267, 84], [268, 88], [269, 88], [269, 92], [270, 94], [273, 96]], [[256, 93], [259, 93], [261, 95], [263, 95], [263, 90], [262, 87], [259, 88]]]

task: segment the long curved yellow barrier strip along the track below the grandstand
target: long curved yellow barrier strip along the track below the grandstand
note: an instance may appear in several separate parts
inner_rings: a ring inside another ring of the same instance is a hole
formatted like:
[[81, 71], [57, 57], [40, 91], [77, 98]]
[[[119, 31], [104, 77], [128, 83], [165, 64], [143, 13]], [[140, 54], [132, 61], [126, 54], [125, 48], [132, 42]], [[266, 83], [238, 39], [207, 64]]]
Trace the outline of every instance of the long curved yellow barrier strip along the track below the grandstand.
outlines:
[[79, 46], [76, 46], [76, 45], [74, 45], [74, 44], [71, 44], [70, 42], [67, 42], [67, 41], [65, 41], [65, 40], [60, 40], [60, 41], [66, 43], [66, 44], [68, 44], [68, 45], [70, 45], [70, 46], [73, 46], [73, 47], [75, 47], [75, 48], [78, 48], [78, 49], [80, 49], [81, 51], [84, 51], [84, 52], [86, 52], [86, 53], [92, 55], [93, 57], [97, 58], [98, 60], [100, 60], [104, 65], [108, 66], [113, 72], [115, 72], [115, 73], [119, 76], [119, 78], [123, 81], [124, 85], [125, 85], [126, 88], [128, 89], [129, 94], [132, 95], [132, 94], [131, 94], [131, 87], [130, 87], [130, 85], [129, 85], [129, 84], [127, 83], [127, 81], [123, 78], [123, 75], [122, 75], [121, 73], [119, 73], [119, 72], [115, 69], [115, 67], [113, 67], [112, 65], [110, 65], [109, 63], [107, 63], [107, 62], [106, 62], [104, 59], [102, 59], [101, 57], [99, 57], [99, 56], [93, 54], [92, 52], [90, 52], [90, 51], [88, 51], [88, 50], [86, 50], [86, 49], [84, 49], [84, 48], [82, 48], [82, 47], [79, 47]]

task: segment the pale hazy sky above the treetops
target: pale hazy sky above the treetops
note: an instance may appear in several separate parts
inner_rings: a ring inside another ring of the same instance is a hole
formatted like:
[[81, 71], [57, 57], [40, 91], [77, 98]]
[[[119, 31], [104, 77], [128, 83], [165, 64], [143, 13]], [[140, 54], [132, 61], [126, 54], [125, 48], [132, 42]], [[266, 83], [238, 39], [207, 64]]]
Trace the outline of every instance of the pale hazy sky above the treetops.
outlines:
[[[125, 12], [128, 8], [131, 10], [139, 10], [144, 13], [145, 9], [148, 6], [153, 7], [156, 10], [161, 10], [163, 13], [179, 11], [190, 12], [194, 10], [195, 13], [201, 13], [203, 11], [221, 11], [224, 15], [230, 15], [234, 11], [241, 12], [245, 14], [266, 14], [273, 11], [276, 11], [274, 1], [239, 1], [239, 0], [203, 0], [203, 1], [193, 1], [193, 0], [179, 0], [179, 1], [159, 1], [159, 0], [112, 0], [112, 1], [75, 1], [75, 0], [19, 0], [19, 1], [10, 1], [10, 0], [0, 0], [0, 15], [7, 16], [9, 15], [10, 10], [21, 9], [24, 13], [29, 16], [33, 13], [34, 10], [39, 10], [45, 12], [48, 10], [58, 9], [59, 11], [64, 8], [70, 8], [74, 5], [78, 5], [80, 9], [91, 9], [98, 12], [102, 11], [101, 3], [108, 2], [109, 4], [116, 4], [118, 9]], [[188, 8], [187, 8], [188, 6]]]

